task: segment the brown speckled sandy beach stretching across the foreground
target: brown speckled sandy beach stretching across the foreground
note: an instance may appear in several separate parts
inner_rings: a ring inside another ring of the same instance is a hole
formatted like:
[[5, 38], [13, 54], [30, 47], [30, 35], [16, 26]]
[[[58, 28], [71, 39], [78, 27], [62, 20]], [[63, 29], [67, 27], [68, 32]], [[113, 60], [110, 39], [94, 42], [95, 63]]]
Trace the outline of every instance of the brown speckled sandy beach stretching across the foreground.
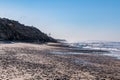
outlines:
[[116, 58], [52, 52], [81, 53], [61, 44], [1, 43], [0, 80], [120, 80]]

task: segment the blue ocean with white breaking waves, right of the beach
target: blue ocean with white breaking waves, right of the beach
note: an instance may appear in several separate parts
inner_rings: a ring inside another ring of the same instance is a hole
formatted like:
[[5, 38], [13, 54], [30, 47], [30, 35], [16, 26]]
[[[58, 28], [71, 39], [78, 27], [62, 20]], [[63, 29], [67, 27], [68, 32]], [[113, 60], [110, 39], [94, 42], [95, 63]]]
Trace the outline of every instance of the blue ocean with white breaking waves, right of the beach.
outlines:
[[109, 51], [109, 53], [103, 53], [102, 55], [111, 56], [120, 59], [120, 42], [88, 41], [88, 42], [70, 43], [70, 45], [73, 47], [77, 47], [78, 49], [106, 50]]

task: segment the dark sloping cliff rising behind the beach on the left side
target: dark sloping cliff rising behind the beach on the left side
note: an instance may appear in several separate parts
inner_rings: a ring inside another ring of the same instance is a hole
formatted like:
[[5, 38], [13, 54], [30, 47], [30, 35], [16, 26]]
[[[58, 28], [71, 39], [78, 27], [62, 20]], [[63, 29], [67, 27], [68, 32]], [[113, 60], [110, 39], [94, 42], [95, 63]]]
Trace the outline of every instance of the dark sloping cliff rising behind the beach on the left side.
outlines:
[[25, 26], [18, 21], [0, 18], [0, 40], [25, 42], [56, 42], [32, 26]]

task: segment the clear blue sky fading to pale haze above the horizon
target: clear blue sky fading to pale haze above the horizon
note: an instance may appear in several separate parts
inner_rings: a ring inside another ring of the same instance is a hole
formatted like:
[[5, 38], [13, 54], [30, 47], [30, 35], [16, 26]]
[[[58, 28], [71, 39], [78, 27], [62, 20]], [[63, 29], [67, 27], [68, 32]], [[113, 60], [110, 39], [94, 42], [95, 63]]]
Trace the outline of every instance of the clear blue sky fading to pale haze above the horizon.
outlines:
[[0, 17], [68, 42], [120, 41], [120, 0], [0, 0]]

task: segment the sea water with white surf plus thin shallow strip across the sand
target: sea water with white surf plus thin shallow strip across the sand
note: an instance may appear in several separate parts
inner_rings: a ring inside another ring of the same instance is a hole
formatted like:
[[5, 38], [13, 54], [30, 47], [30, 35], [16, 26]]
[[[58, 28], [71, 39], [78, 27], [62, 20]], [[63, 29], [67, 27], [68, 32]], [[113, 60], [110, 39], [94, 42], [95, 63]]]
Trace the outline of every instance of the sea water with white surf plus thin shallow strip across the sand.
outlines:
[[[105, 56], [111, 56], [115, 57], [117, 59], [120, 59], [120, 42], [102, 42], [102, 41], [97, 41], [97, 42], [80, 42], [80, 43], [69, 43], [70, 46], [74, 47], [71, 49], [85, 49], [85, 50], [105, 50], [108, 51], [109, 53], [102, 52], [97, 53], [100, 55], [105, 55]], [[85, 54], [85, 53], [80, 53], [80, 52], [52, 52], [52, 54], [59, 54], [59, 55], [76, 55], [76, 54]], [[92, 53], [87, 53], [87, 54], [92, 54]], [[95, 53], [94, 53], [95, 54]]]

